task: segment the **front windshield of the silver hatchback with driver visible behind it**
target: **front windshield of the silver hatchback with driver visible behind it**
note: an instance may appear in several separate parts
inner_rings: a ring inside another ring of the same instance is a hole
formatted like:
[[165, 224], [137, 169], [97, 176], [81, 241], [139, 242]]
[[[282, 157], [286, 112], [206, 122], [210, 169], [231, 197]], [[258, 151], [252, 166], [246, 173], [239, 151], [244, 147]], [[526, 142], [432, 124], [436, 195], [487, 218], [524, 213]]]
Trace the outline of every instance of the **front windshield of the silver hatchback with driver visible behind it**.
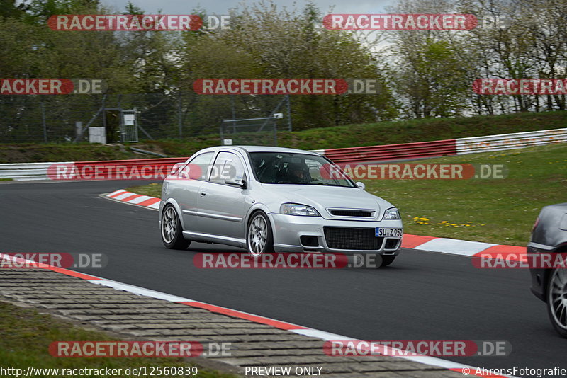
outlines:
[[[290, 152], [252, 152], [252, 168], [266, 184], [329, 185], [356, 188], [339, 168], [322, 156]], [[337, 174], [338, 173], [338, 174]]]

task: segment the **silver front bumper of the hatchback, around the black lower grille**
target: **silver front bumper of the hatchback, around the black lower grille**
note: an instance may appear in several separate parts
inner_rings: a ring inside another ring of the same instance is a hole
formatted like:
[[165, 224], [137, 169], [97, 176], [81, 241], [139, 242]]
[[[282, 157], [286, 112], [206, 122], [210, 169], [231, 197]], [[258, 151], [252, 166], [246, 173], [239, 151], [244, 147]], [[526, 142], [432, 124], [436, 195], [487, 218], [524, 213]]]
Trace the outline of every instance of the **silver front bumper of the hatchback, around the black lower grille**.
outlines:
[[[357, 221], [335, 220], [322, 217], [301, 217], [269, 213], [274, 227], [274, 250], [276, 252], [332, 252], [332, 253], [372, 253], [395, 256], [400, 252], [402, 239], [386, 237], [376, 244], [376, 249], [341, 249], [331, 248], [325, 238], [325, 227], [344, 227], [354, 229], [375, 229], [376, 227], [402, 228], [402, 221]], [[303, 237], [302, 237], [303, 236]]]

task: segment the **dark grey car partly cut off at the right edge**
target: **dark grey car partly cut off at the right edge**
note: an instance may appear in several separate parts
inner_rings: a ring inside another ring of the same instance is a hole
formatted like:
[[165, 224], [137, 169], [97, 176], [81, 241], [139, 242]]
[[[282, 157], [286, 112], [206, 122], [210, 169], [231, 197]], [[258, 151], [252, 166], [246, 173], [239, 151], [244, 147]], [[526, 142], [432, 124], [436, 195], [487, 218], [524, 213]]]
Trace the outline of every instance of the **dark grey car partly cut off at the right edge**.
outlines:
[[[541, 209], [527, 245], [534, 253], [567, 253], [567, 202]], [[563, 256], [562, 256], [563, 257]], [[546, 302], [549, 319], [556, 331], [567, 338], [567, 269], [530, 267], [531, 290]]]

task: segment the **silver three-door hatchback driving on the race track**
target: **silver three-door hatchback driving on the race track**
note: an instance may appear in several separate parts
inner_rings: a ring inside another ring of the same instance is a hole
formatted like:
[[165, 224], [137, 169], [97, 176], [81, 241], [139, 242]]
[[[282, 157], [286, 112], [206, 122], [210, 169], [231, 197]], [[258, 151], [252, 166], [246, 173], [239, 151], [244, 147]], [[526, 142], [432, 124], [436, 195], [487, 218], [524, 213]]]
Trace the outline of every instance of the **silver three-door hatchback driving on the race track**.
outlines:
[[210, 147], [176, 166], [163, 183], [159, 229], [167, 248], [197, 241], [254, 256], [374, 253], [381, 266], [403, 236], [398, 210], [325, 156], [261, 146]]

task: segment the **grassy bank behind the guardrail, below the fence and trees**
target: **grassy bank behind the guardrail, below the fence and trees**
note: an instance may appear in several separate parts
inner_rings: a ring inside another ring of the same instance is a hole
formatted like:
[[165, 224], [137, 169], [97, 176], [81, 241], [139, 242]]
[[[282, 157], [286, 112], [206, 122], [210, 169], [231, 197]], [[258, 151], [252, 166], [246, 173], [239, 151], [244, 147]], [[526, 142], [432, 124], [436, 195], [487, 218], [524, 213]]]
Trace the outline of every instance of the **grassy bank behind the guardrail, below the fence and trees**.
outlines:
[[[301, 125], [295, 125], [295, 127], [301, 128]], [[566, 111], [479, 115], [466, 118], [427, 118], [279, 132], [278, 144], [280, 147], [298, 149], [334, 149], [478, 137], [561, 127], [567, 127]], [[247, 141], [243, 141], [242, 138], [235, 139], [235, 143], [262, 144], [264, 142], [264, 144], [273, 144], [271, 134], [266, 134], [263, 141], [259, 140], [259, 137], [260, 134], [254, 134]], [[128, 146], [166, 154], [167, 156], [191, 156], [199, 149], [216, 146], [219, 143], [218, 134], [209, 134], [188, 137], [183, 140], [143, 141], [128, 144]], [[134, 154], [119, 145], [108, 146], [88, 143], [0, 144], [0, 163], [140, 159], [142, 157], [152, 156]]]

